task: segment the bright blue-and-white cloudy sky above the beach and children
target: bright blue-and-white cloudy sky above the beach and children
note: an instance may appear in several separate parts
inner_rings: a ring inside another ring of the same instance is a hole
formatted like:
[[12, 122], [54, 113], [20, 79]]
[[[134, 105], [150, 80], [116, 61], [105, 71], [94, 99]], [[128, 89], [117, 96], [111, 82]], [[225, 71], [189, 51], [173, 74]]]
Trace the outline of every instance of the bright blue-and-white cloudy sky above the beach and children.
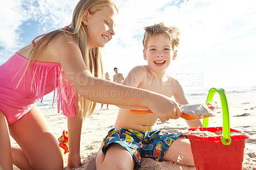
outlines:
[[[256, 86], [256, 1], [113, 0], [115, 36], [104, 47], [104, 72], [124, 77], [143, 59], [145, 26], [180, 29], [177, 59], [166, 75], [184, 89]], [[36, 36], [70, 24], [78, 0], [0, 0], [0, 65]]]

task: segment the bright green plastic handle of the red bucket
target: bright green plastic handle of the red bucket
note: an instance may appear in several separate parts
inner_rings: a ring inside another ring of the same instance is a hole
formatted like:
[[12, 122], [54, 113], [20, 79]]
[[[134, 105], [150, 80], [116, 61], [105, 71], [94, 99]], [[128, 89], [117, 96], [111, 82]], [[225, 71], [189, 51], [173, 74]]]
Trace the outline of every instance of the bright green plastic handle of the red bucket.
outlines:
[[[228, 102], [223, 88], [211, 88], [206, 100], [207, 102], [212, 102], [214, 94], [218, 92], [220, 95], [222, 117], [223, 117], [223, 137], [221, 137], [221, 142], [224, 145], [229, 145], [231, 143], [230, 138], [230, 124], [229, 124], [229, 112], [228, 112]], [[204, 118], [203, 127], [208, 127], [209, 118]]]

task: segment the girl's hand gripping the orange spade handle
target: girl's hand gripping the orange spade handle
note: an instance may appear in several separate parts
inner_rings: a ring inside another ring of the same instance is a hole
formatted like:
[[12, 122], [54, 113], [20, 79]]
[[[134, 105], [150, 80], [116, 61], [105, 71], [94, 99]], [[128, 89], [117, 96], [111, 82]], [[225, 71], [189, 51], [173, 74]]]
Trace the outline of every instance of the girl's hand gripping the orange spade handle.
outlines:
[[154, 114], [161, 120], [166, 122], [170, 119], [178, 119], [182, 113], [179, 104], [173, 102], [168, 97], [161, 97], [155, 100], [154, 104], [149, 107]]

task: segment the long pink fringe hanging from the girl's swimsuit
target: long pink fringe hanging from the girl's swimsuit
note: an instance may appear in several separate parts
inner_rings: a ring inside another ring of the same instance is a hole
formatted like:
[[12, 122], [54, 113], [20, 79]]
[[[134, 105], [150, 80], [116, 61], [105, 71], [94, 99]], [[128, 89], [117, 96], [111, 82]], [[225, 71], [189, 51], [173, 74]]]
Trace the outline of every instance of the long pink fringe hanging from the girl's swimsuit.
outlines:
[[[50, 69], [54, 69], [54, 80], [52, 79], [52, 83], [54, 83], [54, 93], [53, 93], [53, 101], [52, 107], [54, 107], [54, 99], [57, 93], [57, 105], [58, 112], [61, 114], [74, 117], [76, 115], [76, 89], [72, 86], [72, 84], [68, 81], [67, 77], [64, 75], [61, 66], [58, 65], [40, 65], [37, 61], [33, 62], [31, 66], [29, 66], [31, 72], [29, 74], [29, 78], [31, 83], [31, 91], [36, 94], [37, 100], [41, 100], [41, 103], [44, 98], [45, 85], [47, 83], [47, 74]], [[37, 73], [36, 73], [37, 72]], [[34, 73], [38, 76], [34, 76]], [[26, 80], [26, 76], [24, 75], [24, 79]], [[49, 82], [48, 82], [49, 83]], [[25, 81], [24, 86], [25, 88]]]

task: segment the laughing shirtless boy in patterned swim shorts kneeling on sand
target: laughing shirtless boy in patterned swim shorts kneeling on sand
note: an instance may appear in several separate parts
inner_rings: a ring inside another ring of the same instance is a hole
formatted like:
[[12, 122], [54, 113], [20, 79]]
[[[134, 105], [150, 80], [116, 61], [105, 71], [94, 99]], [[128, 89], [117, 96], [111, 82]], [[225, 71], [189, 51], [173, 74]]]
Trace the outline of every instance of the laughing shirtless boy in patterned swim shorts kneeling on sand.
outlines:
[[[166, 69], [177, 57], [179, 35], [177, 27], [166, 27], [163, 23], [145, 27], [143, 56], [148, 65], [132, 68], [122, 84], [173, 96], [177, 103], [188, 104], [179, 82], [169, 76], [163, 79]], [[188, 139], [180, 133], [152, 130], [157, 123], [156, 115], [131, 114], [129, 109], [120, 108], [115, 128], [109, 131], [105, 145], [99, 150], [97, 169], [138, 168], [141, 157], [194, 165]], [[189, 127], [202, 127], [200, 120], [187, 123]]]

